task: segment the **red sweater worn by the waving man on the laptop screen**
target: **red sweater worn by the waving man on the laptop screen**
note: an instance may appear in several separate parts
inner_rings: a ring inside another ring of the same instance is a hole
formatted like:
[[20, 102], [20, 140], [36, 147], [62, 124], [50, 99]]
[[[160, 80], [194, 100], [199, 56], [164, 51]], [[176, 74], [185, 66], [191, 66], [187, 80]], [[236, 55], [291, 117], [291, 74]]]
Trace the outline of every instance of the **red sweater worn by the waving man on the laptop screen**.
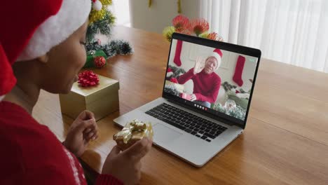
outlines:
[[193, 74], [193, 68], [191, 68], [188, 72], [179, 76], [178, 82], [184, 84], [190, 79], [193, 81], [193, 94], [196, 95], [196, 100], [210, 103], [217, 101], [217, 94], [219, 94], [221, 85], [219, 75], [214, 72], [205, 74], [204, 69], [198, 74]]

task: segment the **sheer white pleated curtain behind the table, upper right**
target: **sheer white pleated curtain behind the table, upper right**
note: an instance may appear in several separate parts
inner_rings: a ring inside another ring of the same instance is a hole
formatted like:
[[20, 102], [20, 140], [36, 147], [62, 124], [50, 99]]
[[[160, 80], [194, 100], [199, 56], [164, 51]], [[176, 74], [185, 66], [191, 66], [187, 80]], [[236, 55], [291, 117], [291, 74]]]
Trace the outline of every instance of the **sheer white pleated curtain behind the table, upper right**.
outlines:
[[200, 17], [224, 41], [262, 57], [328, 72], [327, 0], [201, 0]]

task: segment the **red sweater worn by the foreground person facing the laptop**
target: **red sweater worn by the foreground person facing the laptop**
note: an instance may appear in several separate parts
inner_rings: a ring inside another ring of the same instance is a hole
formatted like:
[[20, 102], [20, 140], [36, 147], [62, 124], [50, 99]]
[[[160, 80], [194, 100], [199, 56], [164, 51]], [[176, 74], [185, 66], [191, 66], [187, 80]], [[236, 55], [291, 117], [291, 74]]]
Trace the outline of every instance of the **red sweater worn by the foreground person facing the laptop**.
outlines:
[[[0, 102], [0, 184], [86, 184], [83, 168], [25, 109]], [[96, 184], [122, 184], [100, 174]]]

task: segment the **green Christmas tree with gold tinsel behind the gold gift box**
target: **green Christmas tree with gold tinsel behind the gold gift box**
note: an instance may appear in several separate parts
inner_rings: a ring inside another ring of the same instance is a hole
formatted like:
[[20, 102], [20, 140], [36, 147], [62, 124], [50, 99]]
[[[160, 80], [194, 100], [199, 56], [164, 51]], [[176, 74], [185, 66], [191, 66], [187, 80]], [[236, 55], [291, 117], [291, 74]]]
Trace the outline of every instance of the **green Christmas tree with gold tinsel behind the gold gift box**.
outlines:
[[130, 55], [133, 53], [130, 43], [123, 40], [111, 40], [111, 31], [114, 27], [115, 17], [111, 13], [111, 0], [92, 0], [93, 9], [89, 15], [89, 25], [86, 34], [87, 53], [103, 50], [107, 58], [115, 55]]

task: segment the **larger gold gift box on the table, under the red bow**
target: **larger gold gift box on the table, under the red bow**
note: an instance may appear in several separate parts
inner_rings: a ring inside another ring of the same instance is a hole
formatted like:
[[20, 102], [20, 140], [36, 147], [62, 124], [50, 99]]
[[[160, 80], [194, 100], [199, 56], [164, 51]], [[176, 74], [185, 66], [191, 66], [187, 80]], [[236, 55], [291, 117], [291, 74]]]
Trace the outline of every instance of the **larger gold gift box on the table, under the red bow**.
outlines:
[[118, 111], [118, 81], [98, 76], [98, 85], [81, 87], [75, 82], [69, 94], [60, 95], [62, 114], [75, 119], [82, 111], [88, 110], [95, 114], [95, 119], [98, 121]]

